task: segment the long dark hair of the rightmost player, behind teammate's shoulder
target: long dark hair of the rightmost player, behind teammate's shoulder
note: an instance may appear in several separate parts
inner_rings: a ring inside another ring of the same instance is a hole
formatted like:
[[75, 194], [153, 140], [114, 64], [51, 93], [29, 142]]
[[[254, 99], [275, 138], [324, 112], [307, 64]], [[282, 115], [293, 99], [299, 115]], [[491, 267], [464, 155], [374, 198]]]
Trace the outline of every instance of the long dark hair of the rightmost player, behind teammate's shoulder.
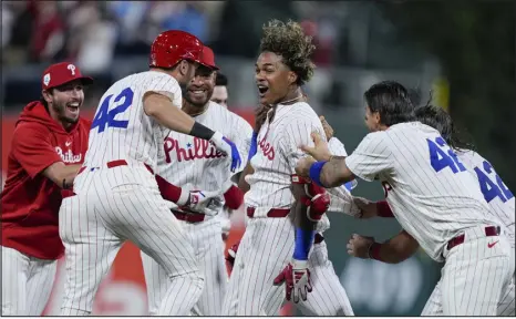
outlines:
[[475, 145], [466, 141], [471, 140], [471, 136], [466, 137], [467, 134], [455, 126], [452, 116], [443, 107], [432, 105], [431, 100], [432, 92], [426, 104], [415, 109], [417, 121], [437, 130], [450, 147], [457, 151], [475, 151]]

